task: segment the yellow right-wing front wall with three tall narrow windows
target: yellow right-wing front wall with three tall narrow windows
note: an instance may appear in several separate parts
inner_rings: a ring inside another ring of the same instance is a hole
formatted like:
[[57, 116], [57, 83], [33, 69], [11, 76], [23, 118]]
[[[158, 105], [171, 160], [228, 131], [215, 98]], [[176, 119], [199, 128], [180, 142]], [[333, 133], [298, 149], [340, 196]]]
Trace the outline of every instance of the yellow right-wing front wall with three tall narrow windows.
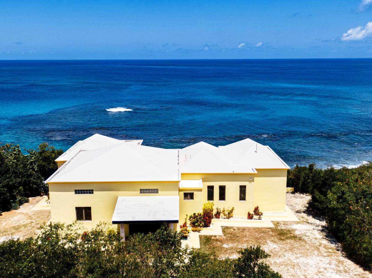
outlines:
[[[287, 170], [257, 170], [257, 174], [182, 174], [182, 180], [203, 181], [203, 189], [180, 190], [180, 222], [185, 215], [201, 212], [207, 202], [207, 186], [214, 186], [214, 209], [234, 207], [234, 216], [247, 217], [259, 206], [262, 212], [284, 212]], [[219, 186], [225, 185], [225, 201], [219, 201]], [[239, 186], [246, 186], [246, 201], [239, 201]], [[184, 192], [194, 192], [194, 200], [183, 200]]]

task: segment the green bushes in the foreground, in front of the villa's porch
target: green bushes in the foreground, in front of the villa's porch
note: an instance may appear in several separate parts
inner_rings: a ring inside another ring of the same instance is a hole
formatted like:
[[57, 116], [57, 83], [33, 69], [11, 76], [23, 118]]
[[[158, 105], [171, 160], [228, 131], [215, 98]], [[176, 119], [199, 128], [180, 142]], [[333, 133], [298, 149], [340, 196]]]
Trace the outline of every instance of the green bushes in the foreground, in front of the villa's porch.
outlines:
[[260, 246], [241, 249], [236, 259], [219, 259], [182, 248], [181, 233], [166, 224], [128, 241], [108, 223], [84, 232], [77, 225], [50, 223], [35, 239], [0, 243], [0, 277], [281, 277], [262, 261], [270, 255]]

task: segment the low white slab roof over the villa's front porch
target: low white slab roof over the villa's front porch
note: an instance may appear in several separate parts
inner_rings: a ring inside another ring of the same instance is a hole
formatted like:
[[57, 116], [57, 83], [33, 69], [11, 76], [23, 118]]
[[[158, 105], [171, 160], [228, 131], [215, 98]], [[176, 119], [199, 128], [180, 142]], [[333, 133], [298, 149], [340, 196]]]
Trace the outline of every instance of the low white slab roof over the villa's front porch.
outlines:
[[118, 197], [113, 224], [147, 221], [179, 221], [179, 196]]

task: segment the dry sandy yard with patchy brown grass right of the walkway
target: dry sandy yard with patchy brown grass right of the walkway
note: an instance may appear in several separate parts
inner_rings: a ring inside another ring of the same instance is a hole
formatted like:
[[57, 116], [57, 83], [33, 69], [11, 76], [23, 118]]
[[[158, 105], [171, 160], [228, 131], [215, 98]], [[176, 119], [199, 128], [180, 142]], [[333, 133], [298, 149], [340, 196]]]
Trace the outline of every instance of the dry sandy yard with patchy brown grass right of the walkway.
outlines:
[[260, 244], [271, 257], [267, 263], [284, 278], [372, 278], [346, 258], [326, 229], [325, 220], [307, 212], [310, 196], [287, 193], [287, 205], [300, 222], [274, 222], [269, 228], [224, 228], [224, 236], [201, 236], [201, 250], [236, 258], [237, 250]]

